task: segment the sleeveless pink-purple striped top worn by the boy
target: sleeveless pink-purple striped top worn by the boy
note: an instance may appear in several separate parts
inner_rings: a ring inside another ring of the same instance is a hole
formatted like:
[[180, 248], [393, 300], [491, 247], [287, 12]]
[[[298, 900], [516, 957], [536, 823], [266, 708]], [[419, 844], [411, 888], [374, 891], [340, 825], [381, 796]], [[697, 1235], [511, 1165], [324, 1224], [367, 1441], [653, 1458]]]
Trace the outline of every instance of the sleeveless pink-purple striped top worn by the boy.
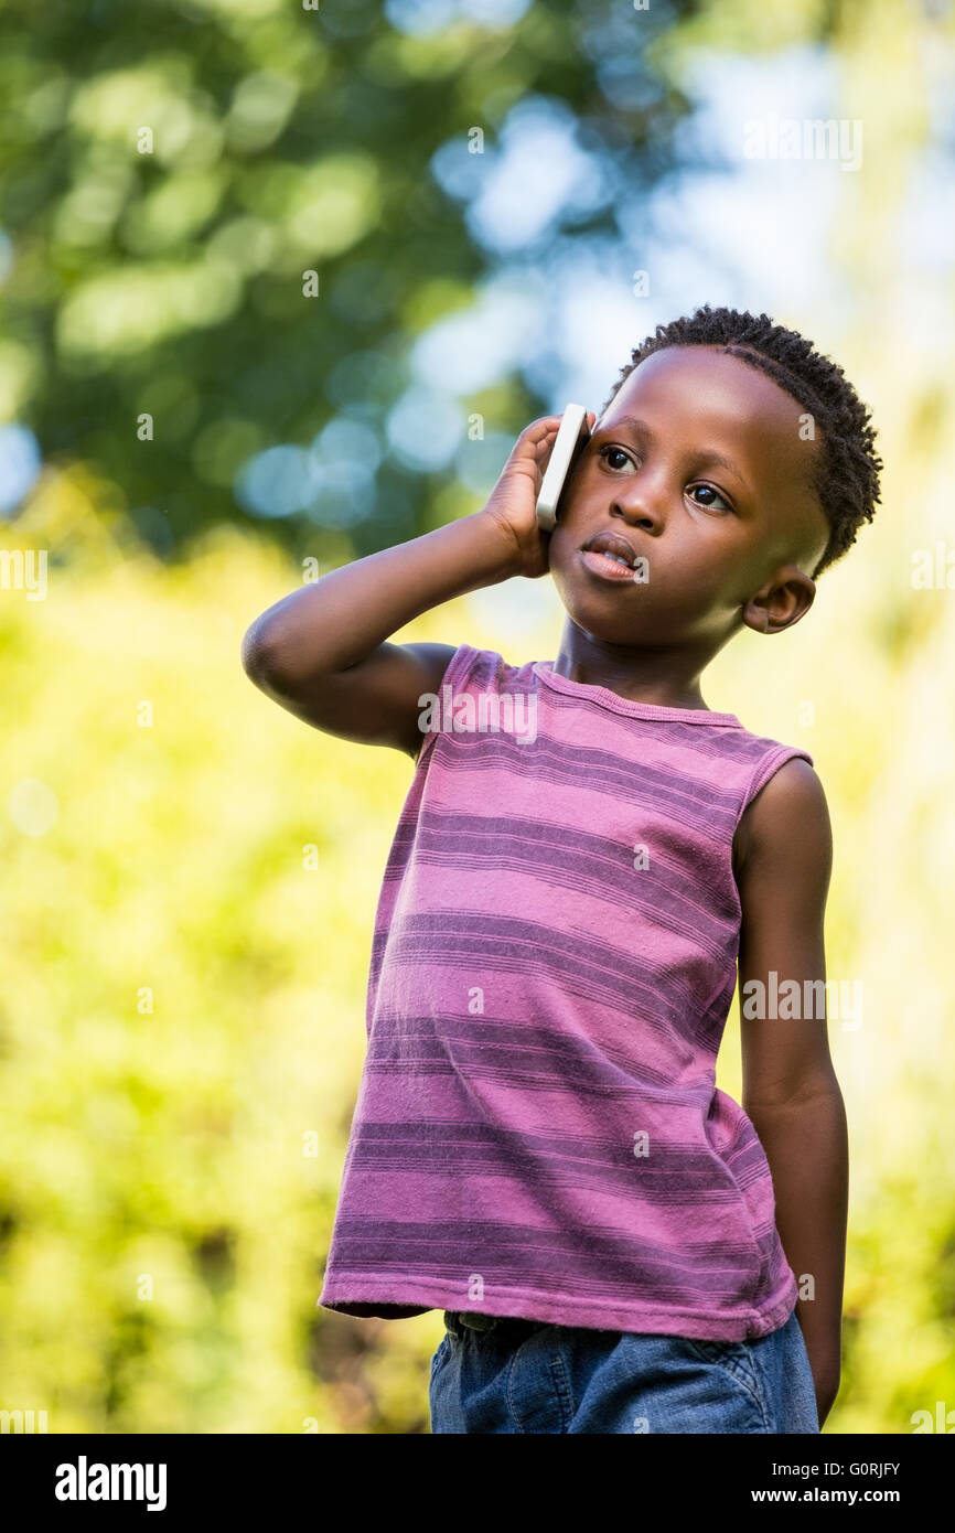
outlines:
[[740, 1341], [796, 1279], [716, 1088], [733, 834], [794, 756], [461, 645], [385, 869], [319, 1303]]

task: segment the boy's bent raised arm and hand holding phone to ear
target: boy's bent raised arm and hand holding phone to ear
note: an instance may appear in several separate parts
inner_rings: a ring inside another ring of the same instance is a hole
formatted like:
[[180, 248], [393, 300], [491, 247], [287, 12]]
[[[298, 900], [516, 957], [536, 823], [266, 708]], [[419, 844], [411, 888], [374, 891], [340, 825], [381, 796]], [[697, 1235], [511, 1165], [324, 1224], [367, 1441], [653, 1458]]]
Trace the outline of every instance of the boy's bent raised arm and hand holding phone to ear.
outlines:
[[346, 740], [417, 756], [418, 698], [437, 691], [454, 645], [389, 644], [405, 624], [464, 592], [547, 572], [533, 506], [560, 417], [518, 437], [483, 510], [333, 570], [268, 607], [242, 665], [268, 698]]

